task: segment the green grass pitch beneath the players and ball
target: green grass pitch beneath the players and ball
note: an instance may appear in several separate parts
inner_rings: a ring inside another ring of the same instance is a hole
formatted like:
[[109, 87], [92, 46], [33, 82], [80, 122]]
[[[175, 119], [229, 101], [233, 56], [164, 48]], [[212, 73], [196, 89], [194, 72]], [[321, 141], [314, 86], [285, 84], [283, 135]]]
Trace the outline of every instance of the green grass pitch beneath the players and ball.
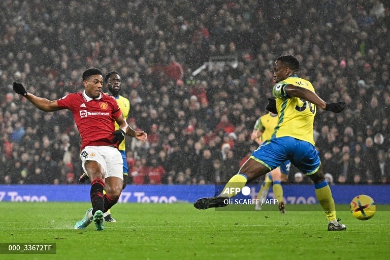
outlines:
[[[0, 259], [387, 259], [390, 207], [367, 221], [346, 205], [345, 232], [328, 232], [323, 212], [287, 205], [277, 211], [197, 210], [191, 204], [118, 204], [116, 223], [73, 230], [88, 203], [0, 203], [0, 242], [57, 243], [54, 254]], [[309, 211], [308, 211], [309, 210]]]

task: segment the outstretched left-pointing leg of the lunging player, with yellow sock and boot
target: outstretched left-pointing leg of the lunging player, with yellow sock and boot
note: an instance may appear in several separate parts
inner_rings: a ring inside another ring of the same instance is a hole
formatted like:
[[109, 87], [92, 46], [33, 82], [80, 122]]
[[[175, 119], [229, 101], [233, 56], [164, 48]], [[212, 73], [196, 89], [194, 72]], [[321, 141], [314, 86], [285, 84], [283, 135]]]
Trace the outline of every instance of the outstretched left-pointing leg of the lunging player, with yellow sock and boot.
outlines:
[[[239, 188], [240, 190], [245, 186], [247, 182], [254, 180], [255, 178], [262, 176], [268, 173], [270, 170], [265, 167], [263, 164], [258, 161], [249, 158], [241, 166], [238, 174], [234, 175], [228, 183], [226, 183], [223, 190], [236, 190], [234, 188]], [[233, 188], [233, 189], [230, 189]], [[226, 199], [234, 197], [235, 193], [229, 194], [219, 194], [217, 197], [213, 198], [202, 198], [197, 200], [193, 206], [197, 209], [208, 209], [208, 208], [218, 208], [227, 206]]]

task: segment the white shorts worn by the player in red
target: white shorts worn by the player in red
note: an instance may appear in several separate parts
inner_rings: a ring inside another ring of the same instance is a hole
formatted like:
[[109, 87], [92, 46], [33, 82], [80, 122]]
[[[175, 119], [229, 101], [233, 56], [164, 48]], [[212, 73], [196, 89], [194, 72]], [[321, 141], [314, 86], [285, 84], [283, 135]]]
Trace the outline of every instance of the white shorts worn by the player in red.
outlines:
[[103, 167], [105, 178], [118, 177], [123, 180], [123, 159], [117, 148], [111, 146], [85, 146], [80, 152], [80, 158], [81, 165], [87, 175], [84, 164], [88, 160], [94, 160]]

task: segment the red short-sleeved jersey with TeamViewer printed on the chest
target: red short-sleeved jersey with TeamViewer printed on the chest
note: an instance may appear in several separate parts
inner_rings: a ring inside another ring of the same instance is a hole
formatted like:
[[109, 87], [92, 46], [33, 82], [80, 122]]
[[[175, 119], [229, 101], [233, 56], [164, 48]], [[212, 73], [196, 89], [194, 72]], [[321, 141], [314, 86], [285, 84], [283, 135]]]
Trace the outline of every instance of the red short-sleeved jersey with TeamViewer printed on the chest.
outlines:
[[62, 109], [72, 111], [77, 128], [79, 129], [85, 146], [115, 145], [114, 118], [118, 118], [122, 111], [112, 96], [102, 93], [100, 98], [91, 99], [85, 92], [72, 93], [57, 100]]

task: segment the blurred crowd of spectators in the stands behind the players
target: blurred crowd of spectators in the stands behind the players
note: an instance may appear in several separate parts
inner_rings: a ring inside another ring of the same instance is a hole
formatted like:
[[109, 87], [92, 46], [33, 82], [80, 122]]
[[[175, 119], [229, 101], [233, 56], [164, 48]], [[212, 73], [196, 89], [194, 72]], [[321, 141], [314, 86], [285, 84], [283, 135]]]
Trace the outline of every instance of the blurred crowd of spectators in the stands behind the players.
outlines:
[[148, 133], [146, 143], [126, 139], [133, 183], [227, 181], [257, 147], [250, 134], [267, 113], [281, 54], [300, 59], [300, 77], [325, 101], [346, 102], [340, 114], [317, 110], [324, 172], [335, 183], [390, 182], [384, 1], [5, 0], [0, 7], [0, 183], [76, 183], [82, 168], [72, 114], [41, 112], [12, 82], [55, 100], [82, 91], [90, 67], [119, 72], [132, 106], [128, 123]]

